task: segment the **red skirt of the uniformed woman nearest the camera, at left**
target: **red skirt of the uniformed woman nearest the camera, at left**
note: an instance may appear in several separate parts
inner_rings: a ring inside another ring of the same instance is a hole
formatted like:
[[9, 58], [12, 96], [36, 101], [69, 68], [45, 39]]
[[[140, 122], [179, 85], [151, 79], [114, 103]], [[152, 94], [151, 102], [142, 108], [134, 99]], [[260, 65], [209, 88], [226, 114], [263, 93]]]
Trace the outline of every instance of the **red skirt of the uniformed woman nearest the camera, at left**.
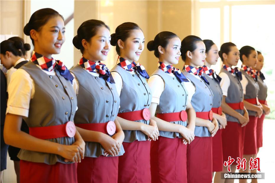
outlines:
[[77, 163], [34, 163], [20, 160], [20, 183], [77, 183]]

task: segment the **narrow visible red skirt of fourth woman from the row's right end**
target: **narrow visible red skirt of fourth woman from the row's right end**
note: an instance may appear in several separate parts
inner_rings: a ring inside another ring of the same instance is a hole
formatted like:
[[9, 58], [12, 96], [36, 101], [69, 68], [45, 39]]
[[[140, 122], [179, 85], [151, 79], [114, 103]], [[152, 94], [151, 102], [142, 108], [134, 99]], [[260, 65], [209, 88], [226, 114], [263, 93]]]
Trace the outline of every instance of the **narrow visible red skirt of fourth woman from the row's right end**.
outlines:
[[212, 172], [223, 170], [221, 129], [212, 137]]

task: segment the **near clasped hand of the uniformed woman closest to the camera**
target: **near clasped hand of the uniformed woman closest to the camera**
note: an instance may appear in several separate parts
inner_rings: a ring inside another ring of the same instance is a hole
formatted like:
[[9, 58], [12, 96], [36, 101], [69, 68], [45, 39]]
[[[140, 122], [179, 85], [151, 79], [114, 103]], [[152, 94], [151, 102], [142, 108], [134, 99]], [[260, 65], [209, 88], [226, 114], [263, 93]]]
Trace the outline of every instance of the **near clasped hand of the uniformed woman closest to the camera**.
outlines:
[[77, 157], [80, 157], [79, 150], [80, 150], [80, 148], [77, 145], [60, 144], [58, 155], [65, 158], [65, 162], [72, 161], [75, 163], [75, 162], [81, 161], [81, 159], [78, 160], [78, 158], [77, 158]]

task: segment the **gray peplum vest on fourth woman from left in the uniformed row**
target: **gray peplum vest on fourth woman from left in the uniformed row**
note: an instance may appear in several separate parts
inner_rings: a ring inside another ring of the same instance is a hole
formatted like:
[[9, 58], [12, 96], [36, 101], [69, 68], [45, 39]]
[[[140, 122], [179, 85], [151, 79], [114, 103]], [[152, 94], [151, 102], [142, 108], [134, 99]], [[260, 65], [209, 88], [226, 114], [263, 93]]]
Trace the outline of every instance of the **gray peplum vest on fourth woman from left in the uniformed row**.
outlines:
[[[161, 93], [159, 105], [156, 108], [156, 113], [172, 113], [185, 111], [188, 93], [185, 90], [184, 82], [180, 83], [176, 77], [171, 77], [161, 69], [157, 69], [152, 75], [159, 75], [165, 83], [164, 91]], [[187, 122], [174, 121], [170, 122], [174, 124], [180, 124], [187, 126]], [[159, 135], [162, 137], [182, 138], [182, 135], [177, 132], [159, 131]]]

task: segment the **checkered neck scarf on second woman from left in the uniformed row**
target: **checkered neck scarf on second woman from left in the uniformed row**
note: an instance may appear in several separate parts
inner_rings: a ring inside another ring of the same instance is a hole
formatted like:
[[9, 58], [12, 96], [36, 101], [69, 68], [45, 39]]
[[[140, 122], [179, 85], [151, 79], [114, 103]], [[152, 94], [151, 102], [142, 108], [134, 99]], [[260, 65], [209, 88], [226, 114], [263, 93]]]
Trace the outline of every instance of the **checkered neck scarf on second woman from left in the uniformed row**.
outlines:
[[115, 83], [109, 69], [100, 61], [90, 61], [82, 57], [78, 64], [89, 72], [99, 73], [99, 77], [102, 77], [106, 81]]

